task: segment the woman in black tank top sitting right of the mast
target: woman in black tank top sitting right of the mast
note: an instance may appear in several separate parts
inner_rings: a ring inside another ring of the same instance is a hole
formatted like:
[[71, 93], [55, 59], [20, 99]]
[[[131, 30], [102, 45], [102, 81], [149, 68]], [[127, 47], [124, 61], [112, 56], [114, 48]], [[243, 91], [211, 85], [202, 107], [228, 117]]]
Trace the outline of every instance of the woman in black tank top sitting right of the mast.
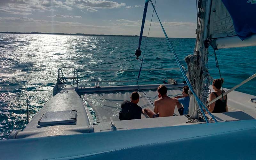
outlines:
[[[209, 96], [210, 98], [210, 102], [215, 99], [216, 97], [220, 96], [222, 93], [224, 93], [225, 91], [221, 91], [221, 86], [223, 84], [224, 80], [223, 78], [221, 79], [214, 79], [212, 82], [212, 89], [214, 90], [214, 92], [212, 92]], [[224, 100], [223, 100], [224, 99]], [[215, 102], [213, 102], [212, 104], [210, 104], [210, 107], [208, 108], [208, 110], [211, 113], [222, 113], [222, 112], [228, 112], [228, 105], [227, 105], [227, 100], [228, 97], [227, 95], [220, 98], [219, 100], [216, 100]]]

